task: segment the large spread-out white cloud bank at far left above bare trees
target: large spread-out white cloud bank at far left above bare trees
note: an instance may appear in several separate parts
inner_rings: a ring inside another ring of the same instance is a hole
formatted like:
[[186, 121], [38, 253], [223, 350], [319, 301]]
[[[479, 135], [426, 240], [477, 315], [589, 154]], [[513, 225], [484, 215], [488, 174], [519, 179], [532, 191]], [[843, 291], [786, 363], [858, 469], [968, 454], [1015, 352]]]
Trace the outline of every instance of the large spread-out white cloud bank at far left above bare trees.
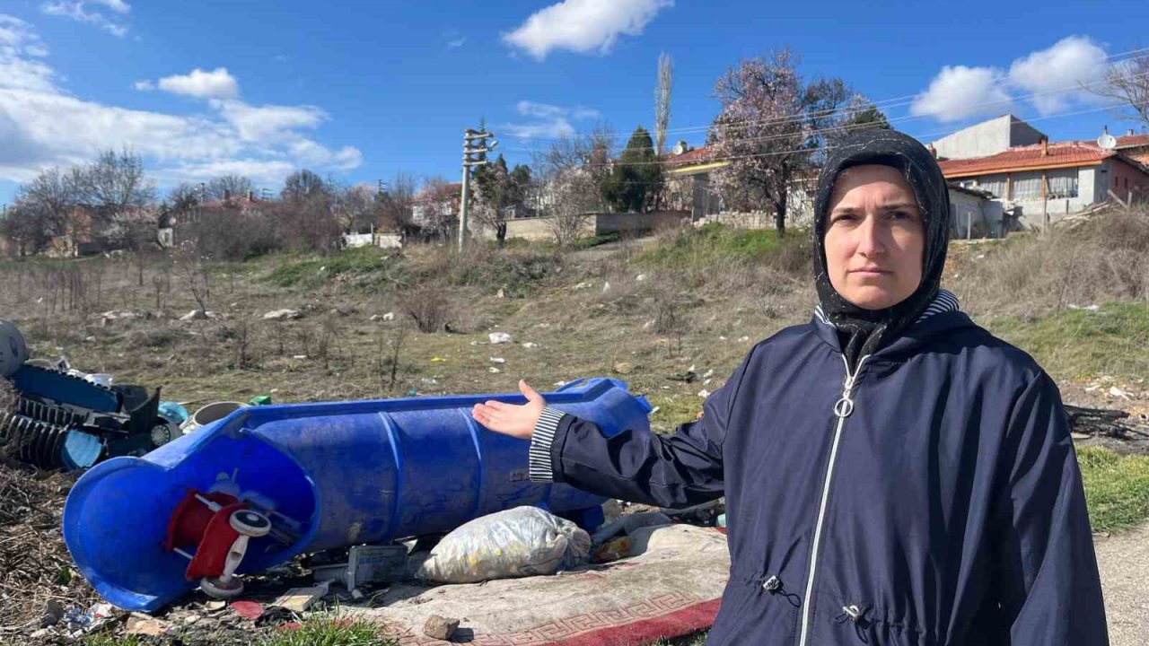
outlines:
[[303, 166], [323, 172], [362, 164], [357, 148], [332, 149], [310, 137], [331, 118], [321, 108], [210, 99], [202, 114], [185, 116], [101, 105], [57, 86], [37, 48], [30, 25], [0, 15], [0, 180], [25, 182], [44, 167], [125, 146], [164, 185], [228, 172], [273, 184]]

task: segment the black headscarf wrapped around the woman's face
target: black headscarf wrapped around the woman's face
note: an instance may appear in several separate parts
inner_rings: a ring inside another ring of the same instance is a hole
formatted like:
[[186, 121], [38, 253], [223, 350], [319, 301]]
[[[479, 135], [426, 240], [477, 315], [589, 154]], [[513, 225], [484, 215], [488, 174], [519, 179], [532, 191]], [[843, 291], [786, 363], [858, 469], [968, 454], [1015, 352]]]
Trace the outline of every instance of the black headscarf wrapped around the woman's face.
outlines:
[[[921, 212], [925, 249], [921, 283], [905, 300], [885, 309], [865, 309], [846, 300], [830, 283], [826, 269], [826, 224], [834, 183], [848, 168], [888, 166], [901, 171], [913, 187]], [[896, 339], [938, 294], [949, 246], [949, 190], [933, 155], [917, 139], [894, 130], [870, 129], [841, 140], [818, 177], [813, 202], [815, 284], [823, 314], [838, 329], [842, 352], [851, 369], [858, 357]]]

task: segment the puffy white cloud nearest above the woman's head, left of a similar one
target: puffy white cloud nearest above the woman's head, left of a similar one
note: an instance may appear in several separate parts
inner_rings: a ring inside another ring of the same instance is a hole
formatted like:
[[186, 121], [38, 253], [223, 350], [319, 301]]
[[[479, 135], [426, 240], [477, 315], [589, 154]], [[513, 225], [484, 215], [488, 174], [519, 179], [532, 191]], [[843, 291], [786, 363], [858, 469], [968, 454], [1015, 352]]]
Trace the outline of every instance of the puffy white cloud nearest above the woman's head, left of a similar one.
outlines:
[[953, 122], [1005, 113], [1011, 102], [1001, 70], [946, 66], [930, 83], [930, 89], [913, 100], [910, 113]]

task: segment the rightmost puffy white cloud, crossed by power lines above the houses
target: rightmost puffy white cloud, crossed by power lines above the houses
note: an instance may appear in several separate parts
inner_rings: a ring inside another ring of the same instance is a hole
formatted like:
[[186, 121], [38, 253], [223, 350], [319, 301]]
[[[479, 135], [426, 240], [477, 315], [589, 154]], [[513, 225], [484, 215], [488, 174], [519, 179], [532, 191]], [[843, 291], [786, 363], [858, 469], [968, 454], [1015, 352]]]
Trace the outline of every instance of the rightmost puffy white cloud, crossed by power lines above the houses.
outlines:
[[1088, 37], [1070, 36], [1013, 61], [1009, 78], [1019, 90], [1036, 94], [1030, 101], [1040, 114], [1052, 114], [1073, 100], [1097, 100], [1082, 85], [1104, 80], [1106, 57], [1105, 51]]

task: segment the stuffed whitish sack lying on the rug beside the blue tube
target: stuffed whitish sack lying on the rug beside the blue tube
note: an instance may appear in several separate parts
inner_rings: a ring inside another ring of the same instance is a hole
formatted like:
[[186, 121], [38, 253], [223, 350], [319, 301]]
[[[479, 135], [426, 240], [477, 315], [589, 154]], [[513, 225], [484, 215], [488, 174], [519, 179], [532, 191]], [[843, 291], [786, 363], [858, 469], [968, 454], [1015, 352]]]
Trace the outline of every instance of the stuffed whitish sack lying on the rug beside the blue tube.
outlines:
[[460, 525], [431, 549], [416, 576], [477, 583], [549, 575], [585, 563], [591, 535], [538, 507], [515, 507]]

